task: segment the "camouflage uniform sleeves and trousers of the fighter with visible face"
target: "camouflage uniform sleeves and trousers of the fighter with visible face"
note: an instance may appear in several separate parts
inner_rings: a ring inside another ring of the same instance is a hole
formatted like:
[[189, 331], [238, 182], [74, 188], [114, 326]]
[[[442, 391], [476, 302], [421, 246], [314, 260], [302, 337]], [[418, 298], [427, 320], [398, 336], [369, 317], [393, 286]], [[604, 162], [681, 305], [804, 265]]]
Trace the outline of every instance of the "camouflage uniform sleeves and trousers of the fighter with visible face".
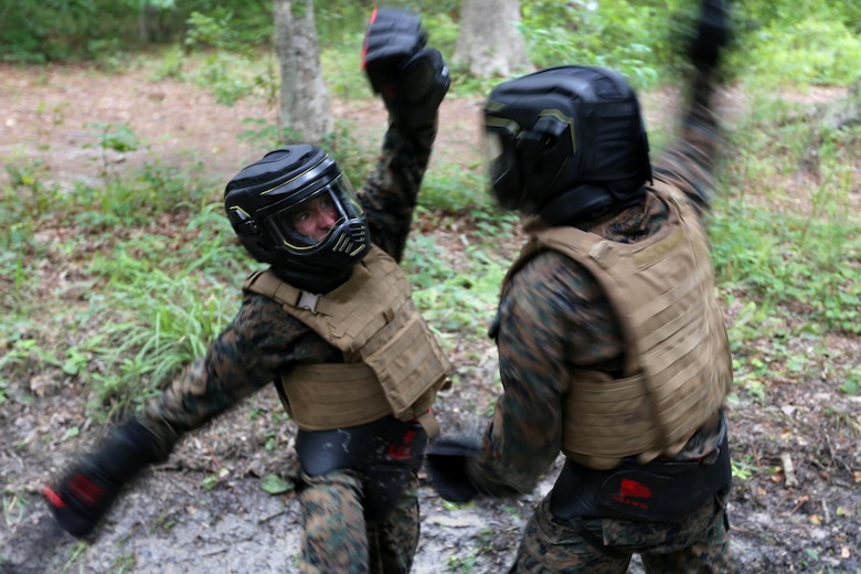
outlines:
[[[391, 127], [378, 168], [358, 190], [374, 244], [396, 258], [403, 254], [435, 134], [436, 128], [405, 138]], [[263, 386], [279, 382], [291, 366], [306, 363], [343, 363], [343, 353], [280, 304], [246, 291], [231, 325], [204, 357], [146, 407], [141, 424], [157, 438], [162, 458], [167, 457], [182, 435]], [[413, 446], [421, 456], [423, 445]], [[305, 525], [301, 572], [410, 571], [419, 531], [414, 471], [392, 513], [366, 528], [360, 471], [337, 469], [298, 478]]]

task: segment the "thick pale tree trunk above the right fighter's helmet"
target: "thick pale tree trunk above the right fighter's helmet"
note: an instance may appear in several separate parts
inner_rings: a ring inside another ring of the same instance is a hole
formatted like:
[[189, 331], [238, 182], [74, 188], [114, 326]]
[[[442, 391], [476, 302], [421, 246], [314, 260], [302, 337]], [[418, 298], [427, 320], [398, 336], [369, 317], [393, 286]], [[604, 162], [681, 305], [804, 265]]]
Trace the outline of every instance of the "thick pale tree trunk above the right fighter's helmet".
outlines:
[[454, 64], [474, 77], [509, 77], [534, 70], [520, 34], [520, 0], [464, 0]]

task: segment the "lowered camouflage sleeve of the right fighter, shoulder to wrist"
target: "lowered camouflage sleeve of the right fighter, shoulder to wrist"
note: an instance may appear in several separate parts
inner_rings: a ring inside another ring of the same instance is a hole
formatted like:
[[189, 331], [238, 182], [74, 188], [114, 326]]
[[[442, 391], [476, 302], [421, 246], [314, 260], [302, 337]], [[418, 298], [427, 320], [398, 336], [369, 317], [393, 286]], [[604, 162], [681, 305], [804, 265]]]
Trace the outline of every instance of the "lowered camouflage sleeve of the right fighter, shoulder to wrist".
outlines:
[[545, 252], [513, 277], [499, 308], [504, 387], [472, 478], [495, 496], [531, 491], [562, 447], [563, 396], [573, 366], [621, 368], [621, 331], [598, 284]]

